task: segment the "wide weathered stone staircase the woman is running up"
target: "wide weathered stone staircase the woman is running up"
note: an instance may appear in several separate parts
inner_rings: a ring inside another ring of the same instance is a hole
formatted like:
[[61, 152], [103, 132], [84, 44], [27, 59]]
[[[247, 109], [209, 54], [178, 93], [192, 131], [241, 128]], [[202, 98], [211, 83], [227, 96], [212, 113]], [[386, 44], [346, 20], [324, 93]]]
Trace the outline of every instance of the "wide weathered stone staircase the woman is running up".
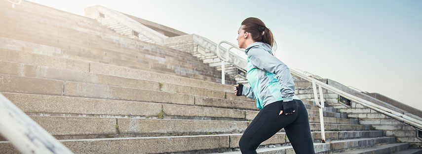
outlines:
[[[218, 83], [215, 68], [90, 18], [28, 1], [0, 7], [0, 92], [75, 154], [240, 153], [241, 133], [259, 111]], [[324, 108], [320, 143], [318, 107], [308, 83], [296, 84], [317, 153], [422, 153], [336, 107]], [[294, 154], [289, 145], [282, 129], [258, 152]], [[18, 153], [0, 137], [0, 154]]]

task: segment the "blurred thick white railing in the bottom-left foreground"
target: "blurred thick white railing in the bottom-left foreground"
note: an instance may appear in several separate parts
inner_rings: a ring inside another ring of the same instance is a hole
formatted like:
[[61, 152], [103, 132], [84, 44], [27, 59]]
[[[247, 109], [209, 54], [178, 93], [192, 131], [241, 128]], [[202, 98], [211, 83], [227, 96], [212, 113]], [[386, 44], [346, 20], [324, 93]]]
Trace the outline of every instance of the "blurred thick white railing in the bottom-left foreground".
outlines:
[[23, 154], [73, 154], [0, 93], [0, 134]]

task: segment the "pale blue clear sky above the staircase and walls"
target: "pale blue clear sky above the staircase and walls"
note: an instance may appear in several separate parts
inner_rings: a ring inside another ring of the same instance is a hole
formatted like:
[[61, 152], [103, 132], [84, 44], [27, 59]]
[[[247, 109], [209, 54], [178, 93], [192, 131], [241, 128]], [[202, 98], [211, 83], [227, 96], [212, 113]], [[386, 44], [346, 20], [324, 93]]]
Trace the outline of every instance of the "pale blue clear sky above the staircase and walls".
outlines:
[[102, 5], [214, 42], [237, 44], [260, 18], [275, 56], [311, 72], [422, 109], [422, 0], [31, 0], [83, 16]]

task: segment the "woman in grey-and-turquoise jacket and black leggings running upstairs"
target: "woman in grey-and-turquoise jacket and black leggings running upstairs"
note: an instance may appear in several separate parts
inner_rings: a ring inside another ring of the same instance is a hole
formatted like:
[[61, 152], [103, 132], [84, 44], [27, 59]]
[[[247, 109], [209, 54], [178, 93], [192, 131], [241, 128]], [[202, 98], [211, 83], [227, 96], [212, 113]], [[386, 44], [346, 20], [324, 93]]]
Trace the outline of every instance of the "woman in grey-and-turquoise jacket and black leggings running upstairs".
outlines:
[[271, 52], [272, 32], [258, 18], [245, 19], [238, 30], [239, 48], [248, 56], [247, 79], [251, 87], [234, 85], [234, 94], [257, 99], [258, 115], [239, 141], [242, 154], [257, 154], [258, 146], [284, 128], [296, 154], [315, 154], [308, 114], [295, 95], [289, 68]]

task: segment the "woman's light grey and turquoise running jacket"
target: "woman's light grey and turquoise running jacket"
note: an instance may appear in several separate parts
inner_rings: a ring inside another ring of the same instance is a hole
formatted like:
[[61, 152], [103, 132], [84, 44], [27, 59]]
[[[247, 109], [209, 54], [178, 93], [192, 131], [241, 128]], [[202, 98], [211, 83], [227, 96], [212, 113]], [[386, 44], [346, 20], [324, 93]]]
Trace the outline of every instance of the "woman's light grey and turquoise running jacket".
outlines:
[[271, 55], [269, 44], [254, 42], [246, 47], [245, 54], [248, 56], [246, 78], [251, 87], [243, 86], [242, 95], [257, 99], [260, 110], [275, 101], [299, 99], [290, 69]]

